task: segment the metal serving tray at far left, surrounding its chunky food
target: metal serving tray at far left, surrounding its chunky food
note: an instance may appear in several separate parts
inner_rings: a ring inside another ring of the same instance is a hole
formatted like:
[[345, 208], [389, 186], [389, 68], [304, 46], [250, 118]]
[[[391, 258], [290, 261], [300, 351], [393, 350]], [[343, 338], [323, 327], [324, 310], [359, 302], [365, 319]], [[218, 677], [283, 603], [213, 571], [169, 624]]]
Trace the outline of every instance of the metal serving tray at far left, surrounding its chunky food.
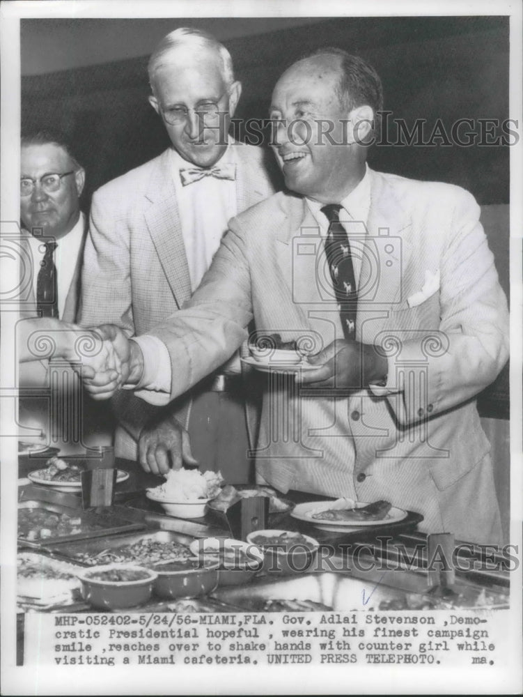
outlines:
[[101, 512], [82, 511], [77, 508], [69, 508], [59, 505], [58, 503], [49, 503], [47, 501], [27, 500], [19, 503], [18, 510], [42, 510], [49, 514], [66, 514], [72, 518], [81, 519], [82, 526], [93, 526], [90, 530], [82, 530], [81, 533], [75, 535], [56, 535], [56, 537], [46, 537], [44, 539], [30, 540], [24, 536], [18, 535], [18, 544], [22, 547], [31, 549], [42, 549], [54, 544], [64, 544], [71, 540], [91, 539], [93, 537], [101, 537], [106, 535], [118, 535], [119, 533], [129, 533], [132, 530], [143, 530], [144, 523], [136, 523], [128, 521], [122, 516], [114, 514], [109, 509], [102, 509]]

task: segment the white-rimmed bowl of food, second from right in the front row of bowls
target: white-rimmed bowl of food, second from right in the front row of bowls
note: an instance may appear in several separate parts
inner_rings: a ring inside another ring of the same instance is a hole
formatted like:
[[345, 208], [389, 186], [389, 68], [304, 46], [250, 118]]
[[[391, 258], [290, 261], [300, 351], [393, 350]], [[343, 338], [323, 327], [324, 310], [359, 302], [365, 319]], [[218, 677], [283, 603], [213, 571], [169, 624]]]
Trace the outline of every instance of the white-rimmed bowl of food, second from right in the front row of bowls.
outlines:
[[263, 551], [254, 544], [230, 537], [195, 539], [190, 551], [201, 559], [219, 562], [218, 585], [251, 581], [263, 567]]

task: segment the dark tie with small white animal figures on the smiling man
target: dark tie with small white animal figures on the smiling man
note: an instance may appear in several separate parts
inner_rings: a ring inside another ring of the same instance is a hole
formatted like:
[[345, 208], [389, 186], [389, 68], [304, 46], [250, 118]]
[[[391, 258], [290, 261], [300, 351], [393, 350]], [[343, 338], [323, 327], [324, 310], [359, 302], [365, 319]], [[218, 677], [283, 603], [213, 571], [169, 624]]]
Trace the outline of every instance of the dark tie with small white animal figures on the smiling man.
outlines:
[[340, 222], [341, 206], [329, 204], [329, 206], [323, 206], [321, 210], [327, 217], [327, 220], [329, 220], [329, 230], [325, 240], [325, 254], [340, 312], [343, 336], [345, 339], [354, 339], [356, 335], [358, 294], [349, 238]]

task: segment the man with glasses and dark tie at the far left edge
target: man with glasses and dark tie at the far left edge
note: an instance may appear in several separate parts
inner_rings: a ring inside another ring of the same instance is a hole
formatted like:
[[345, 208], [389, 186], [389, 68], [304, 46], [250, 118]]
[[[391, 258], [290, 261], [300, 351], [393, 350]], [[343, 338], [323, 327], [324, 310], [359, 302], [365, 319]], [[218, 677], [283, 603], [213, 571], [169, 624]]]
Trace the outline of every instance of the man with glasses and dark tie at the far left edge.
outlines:
[[[63, 330], [75, 321], [79, 305], [87, 232], [80, 209], [85, 171], [65, 136], [49, 130], [22, 137], [20, 165], [21, 243], [31, 259], [31, 289], [20, 315], [42, 318], [37, 325], [46, 326], [52, 341], [59, 343]], [[109, 411], [87, 396], [81, 398], [81, 385], [72, 369], [58, 365], [56, 359], [51, 367], [34, 346], [32, 354], [27, 346], [19, 351], [21, 356], [26, 352], [26, 360], [33, 359], [19, 367], [20, 438], [38, 442], [42, 434], [47, 445], [58, 446], [63, 453], [109, 442], [109, 433], [104, 434]]]

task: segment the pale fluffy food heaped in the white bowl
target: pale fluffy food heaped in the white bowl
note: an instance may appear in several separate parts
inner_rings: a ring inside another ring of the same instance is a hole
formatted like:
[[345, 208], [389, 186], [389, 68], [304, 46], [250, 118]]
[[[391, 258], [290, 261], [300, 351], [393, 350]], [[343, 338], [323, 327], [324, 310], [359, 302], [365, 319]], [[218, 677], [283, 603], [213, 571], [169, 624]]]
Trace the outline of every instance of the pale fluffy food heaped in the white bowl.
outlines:
[[148, 489], [157, 500], [164, 499], [182, 503], [198, 499], [208, 500], [218, 496], [224, 479], [221, 473], [201, 472], [200, 470], [169, 470], [165, 482], [159, 487]]

